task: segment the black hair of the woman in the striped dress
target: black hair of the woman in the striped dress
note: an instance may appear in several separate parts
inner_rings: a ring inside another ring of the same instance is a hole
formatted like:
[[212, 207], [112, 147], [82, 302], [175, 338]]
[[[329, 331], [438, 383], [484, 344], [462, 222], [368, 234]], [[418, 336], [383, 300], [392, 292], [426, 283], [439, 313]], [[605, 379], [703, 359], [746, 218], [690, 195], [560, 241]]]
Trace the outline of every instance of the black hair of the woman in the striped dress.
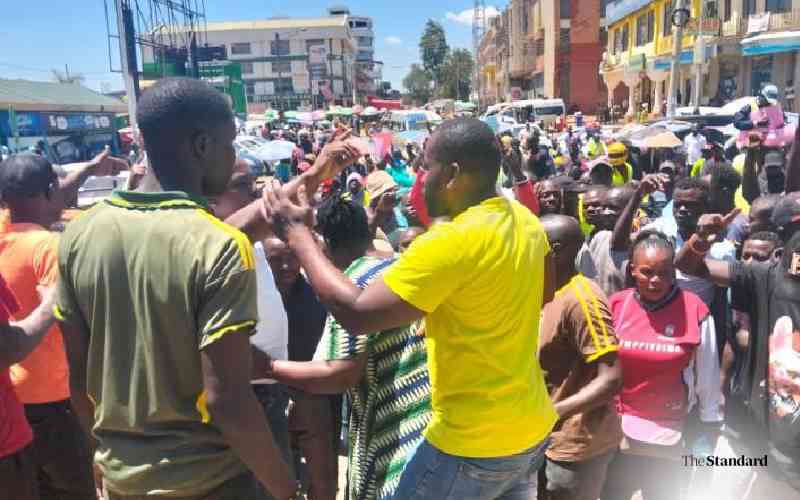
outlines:
[[332, 251], [353, 246], [369, 246], [369, 230], [364, 207], [340, 196], [328, 196], [317, 209], [317, 231]]

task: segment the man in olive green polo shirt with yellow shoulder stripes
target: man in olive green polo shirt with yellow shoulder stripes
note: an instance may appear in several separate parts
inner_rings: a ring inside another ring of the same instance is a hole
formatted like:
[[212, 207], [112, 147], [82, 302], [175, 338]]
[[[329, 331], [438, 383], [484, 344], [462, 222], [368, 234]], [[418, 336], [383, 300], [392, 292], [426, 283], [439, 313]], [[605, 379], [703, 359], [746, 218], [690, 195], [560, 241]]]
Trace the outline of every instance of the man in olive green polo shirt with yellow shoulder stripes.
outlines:
[[230, 106], [204, 82], [166, 79], [137, 119], [151, 174], [59, 247], [56, 315], [104, 487], [112, 500], [239, 500], [259, 497], [257, 479], [300, 498], [250, 388], [252, 246], [204, 198], [232, 172]]

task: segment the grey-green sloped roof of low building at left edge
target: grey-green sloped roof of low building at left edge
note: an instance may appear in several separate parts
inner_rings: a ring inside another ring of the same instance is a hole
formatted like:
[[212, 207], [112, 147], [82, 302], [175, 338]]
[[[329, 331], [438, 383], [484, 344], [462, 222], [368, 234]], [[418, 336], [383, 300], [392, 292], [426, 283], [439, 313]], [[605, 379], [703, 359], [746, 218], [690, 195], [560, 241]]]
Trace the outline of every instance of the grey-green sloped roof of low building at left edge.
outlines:
[[126, 104], [77, 84], [4, 80], [0, 78], [0, 108], [20, 111], [108, 111], [123, 113]]

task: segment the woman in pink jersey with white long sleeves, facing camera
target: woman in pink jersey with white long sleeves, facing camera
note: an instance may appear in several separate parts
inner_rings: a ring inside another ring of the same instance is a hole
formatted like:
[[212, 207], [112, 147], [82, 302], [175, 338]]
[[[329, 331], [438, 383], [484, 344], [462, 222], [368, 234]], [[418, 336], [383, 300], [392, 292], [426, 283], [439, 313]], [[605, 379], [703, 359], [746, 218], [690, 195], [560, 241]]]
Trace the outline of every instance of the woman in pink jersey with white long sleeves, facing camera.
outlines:
[[609, 301], [620, 340], [617, 408], [625, 437], [604, 499], [630, 498], [639, 489], [643, 500], [681, 498], [697, 465], [684, 463], [694, 446], [685, 436], [690, 414], [709, 432], [722, 421], [714, 319], [697, 295], [678, 288], [674, 259], [667, 236], [643, 231], [628, 264], [634, 287]]

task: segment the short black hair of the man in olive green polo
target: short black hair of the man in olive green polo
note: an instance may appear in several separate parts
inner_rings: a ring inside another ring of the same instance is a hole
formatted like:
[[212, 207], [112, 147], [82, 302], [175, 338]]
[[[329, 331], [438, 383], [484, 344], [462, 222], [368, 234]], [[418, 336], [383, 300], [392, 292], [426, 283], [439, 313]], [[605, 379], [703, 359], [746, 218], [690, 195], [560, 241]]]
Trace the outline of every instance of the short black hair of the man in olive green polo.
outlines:
[[198, 130], [232, 123], [233, 110], [221, 92], [202, 80], [164, 78], [142, 93], [136, 120], [153, 157]]

